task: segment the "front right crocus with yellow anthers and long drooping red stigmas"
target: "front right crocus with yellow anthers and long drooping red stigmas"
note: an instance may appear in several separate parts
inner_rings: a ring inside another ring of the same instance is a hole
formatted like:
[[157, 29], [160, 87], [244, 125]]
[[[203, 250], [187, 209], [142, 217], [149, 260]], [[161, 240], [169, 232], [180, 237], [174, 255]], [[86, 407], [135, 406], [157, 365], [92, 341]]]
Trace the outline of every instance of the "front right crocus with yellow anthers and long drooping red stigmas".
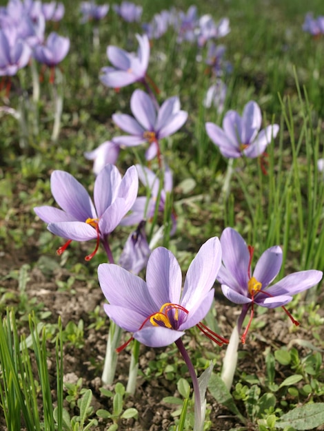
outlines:
[[287, 275], [279, 282], [270, 284], [278, 275], [283, 262], [280, 246], [272, 246], [261, 255], [254, 271], [251, 263], [254, 248], [247, 246], [243, 238], [234, 229], [227, 227], [221, 235], [223, 264], [217, 275], [223, 294], [227, 299], [243, 306], [239, 317], [239, 332], [245, 315], [251, 308], [250, 321], [241, 337], [245, 343], [247, 331], [254, 315], [254, 304], [265, 308], [282, 307], [296, 326], [299, 323], [290, 315], [285, 305], [292, 300], [292, 295], [305, 291], [317, 284], [322, 271], [299, 271]]

